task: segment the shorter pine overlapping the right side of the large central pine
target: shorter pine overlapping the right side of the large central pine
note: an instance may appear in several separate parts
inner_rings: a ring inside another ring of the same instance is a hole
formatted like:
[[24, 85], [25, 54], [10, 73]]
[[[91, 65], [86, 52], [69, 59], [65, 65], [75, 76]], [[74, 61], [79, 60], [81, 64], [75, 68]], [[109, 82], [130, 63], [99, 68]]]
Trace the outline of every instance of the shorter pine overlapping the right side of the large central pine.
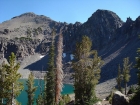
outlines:
[[97, 51], [93, 51], [93, 58], [92, 58], [92, 65], [89, 65], [87, 68], [87, 78], [85, 80], [85, 96], [87, 103], [93, 104], [97, 101], [97, 97], [95, 94], [95, 87], [96, 84], [99, 82], [100, 79], [100, 72], [101, 72], [101, 65], [103, 64], [103, 61], [100, 57], [98, 57]]

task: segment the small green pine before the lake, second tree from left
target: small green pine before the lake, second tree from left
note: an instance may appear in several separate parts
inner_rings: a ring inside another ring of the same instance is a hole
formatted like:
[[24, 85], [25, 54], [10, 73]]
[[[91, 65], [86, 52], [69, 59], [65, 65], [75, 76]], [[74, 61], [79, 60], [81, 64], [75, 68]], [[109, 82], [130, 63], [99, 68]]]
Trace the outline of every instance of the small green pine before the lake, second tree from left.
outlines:
[[36, 91], [37, 87], [34, 86], [34, 76], [33, 73], [31, 72], [29, 74], [28, 80], [26, 82], [26, 85], [28, 89], [26, 90], [27, 95], [28, 95], [28, 105], [33, 105], [34, 104], [34, 92]]

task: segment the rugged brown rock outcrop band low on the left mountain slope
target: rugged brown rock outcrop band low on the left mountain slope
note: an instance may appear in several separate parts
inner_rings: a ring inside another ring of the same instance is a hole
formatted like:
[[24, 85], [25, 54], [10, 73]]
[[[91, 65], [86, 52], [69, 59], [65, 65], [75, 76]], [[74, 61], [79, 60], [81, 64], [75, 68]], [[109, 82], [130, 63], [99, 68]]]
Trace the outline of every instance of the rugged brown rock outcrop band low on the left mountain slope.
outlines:
[[36, 48], [41, 42], [39, 40], [32, 40], [28, 38], [19, 38], [7, 40], [0, 38], [0, 49], [3, 57], [8, 58], [11, 52], [14, 52], [17, 59], [23, 59], [26, 56], [34, 55]]

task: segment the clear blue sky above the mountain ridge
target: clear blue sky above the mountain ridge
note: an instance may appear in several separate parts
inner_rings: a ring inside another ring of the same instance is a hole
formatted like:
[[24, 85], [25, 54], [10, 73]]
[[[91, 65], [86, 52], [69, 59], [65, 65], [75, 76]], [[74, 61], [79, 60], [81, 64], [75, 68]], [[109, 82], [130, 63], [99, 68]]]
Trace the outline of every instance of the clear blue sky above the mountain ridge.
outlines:
[[83, 23], [97, 9], [111, 10], [123, 21], [129, 16], [135, 20], [140, 16], [140, 0], [0, 0], [0, 23], [26, 12]]

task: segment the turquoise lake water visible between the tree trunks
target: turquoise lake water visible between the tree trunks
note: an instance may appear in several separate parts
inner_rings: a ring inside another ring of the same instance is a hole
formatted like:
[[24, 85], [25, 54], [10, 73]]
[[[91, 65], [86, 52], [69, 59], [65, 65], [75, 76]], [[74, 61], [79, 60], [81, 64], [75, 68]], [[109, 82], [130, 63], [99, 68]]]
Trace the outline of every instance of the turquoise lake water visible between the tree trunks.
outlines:
[[[19, 95], [19, 97], [17, 98], [17, 100], [22, 104], [22, 105], [27, 105], [27, 93], [25, 92], [25, 90], [27, 90], [27, 86], [26, 86], [26, 81], [27, 79], [21, 79], [20, 82], [22, 82], [24, 84], [24, 90], [21, 92], [21, 94]], [[38, 84], [41, 84], [42, 86], [44, 85], [44, 81], [43, 80], [38, 80], [35, 79], [35, 86], [38, 86]], [[63, 87], [63, 91], [61, 94], [71, 94], [73, 93], [73, 85], [70, 84], [64, 84]], [[40, 94], [40, 88], [38, 86], [36, 92], [35, 92], [35, 100], [38, 97], [38, 95]], [[34, 104], [36, 105], [36, 104]]]

